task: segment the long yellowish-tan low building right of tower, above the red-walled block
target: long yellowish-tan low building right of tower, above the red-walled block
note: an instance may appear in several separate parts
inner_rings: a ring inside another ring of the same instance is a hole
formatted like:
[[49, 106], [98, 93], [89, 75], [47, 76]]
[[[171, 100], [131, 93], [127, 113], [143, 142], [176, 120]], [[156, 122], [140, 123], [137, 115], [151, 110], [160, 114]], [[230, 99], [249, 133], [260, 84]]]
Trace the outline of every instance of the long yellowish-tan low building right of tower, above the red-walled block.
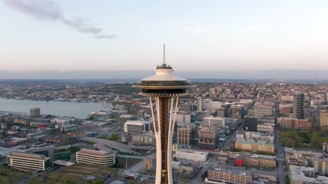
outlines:
[[274, 153], [274, 145], [266, 141], [237, 140], [235, 147], [243, 151], [263, 151]]

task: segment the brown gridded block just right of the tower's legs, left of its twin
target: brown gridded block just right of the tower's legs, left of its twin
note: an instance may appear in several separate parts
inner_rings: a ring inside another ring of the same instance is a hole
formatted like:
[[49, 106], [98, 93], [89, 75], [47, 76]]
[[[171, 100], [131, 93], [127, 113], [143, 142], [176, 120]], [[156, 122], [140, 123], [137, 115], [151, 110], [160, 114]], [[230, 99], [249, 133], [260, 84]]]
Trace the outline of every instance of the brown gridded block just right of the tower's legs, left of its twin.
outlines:
[[183, 126], [177, 129], [177, 143], [179, 148], [192, 146], [195, 126]]

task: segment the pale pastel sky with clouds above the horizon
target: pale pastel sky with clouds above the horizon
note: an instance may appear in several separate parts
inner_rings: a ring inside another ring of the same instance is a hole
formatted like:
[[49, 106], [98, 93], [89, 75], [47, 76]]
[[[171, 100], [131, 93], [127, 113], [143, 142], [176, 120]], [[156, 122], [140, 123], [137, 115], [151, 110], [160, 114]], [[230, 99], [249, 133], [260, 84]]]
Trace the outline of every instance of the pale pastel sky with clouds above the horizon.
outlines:
[[0, 0], [0, 71], [328, 70], [328, 1]]

